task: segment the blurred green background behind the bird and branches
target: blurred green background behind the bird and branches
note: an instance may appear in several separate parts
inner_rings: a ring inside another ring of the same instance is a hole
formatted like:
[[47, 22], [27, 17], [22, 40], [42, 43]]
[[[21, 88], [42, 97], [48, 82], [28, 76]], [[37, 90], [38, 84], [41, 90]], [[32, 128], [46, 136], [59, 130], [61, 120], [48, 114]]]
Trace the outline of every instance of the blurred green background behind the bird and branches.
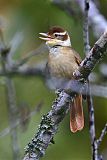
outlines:
[[[107, 2], [101, 1], [100, 10], [107, 16]], [[81, 57], [83, 54], [83, 22], [82, 18], [68, 16], [64, 11], [53, 5], [50, 0], [0, 0], [0, 18], [3, 21], [3, 34], [7, 44], [17, 32], [24, 35], [24, 39], [18, 48], [15, 58], [21, 59], [26, 54], [37, 48], [42, 41], [39, 39], [39, 32], [48, 31], [50, 26], [59, 25], [65, 28], [72, 39], [72, 46]], [[1, 24], [2, 25], [2, 24]], [[95, 42], [90, 29], [90, 44]], [[45, 56], [47, 57], [47, 55]], [[29, 64], [39, 63], [44, 56], [33, 57]], [[105, 59], [106, 61], [106, 59]], [[98, 73], [98, 67], [96, 69]], [[13, 77], [16, 89], [17, 106], [25, 102], [33, 110], [36, 104], [43, 101], [40, 113], [32, 116], [26, 131], [18, 127], [18, 141], [20, 144], [21, 157], [24, 155], [24, 147], [34, 136], [43, 114], [50, 110], [52, 101], [55, 98], [53, 91], [50, 91], [44, 80], [39, 76], [15, 76]], [[107, 100], [93, 97], [95, 107], [95, 122], [97, 136], [100, 135], [105, 122], [107, 121]], [[54, 140], [55, 144], [50, 145], [43, 160], [90, 160], [90, 136], [88, 129], [87, 106], [84, 102], [85, 127], [81, 132], [72, 134], [69, 129], [69, 114], [61, 123]], [[0, 77], [0, 132], [9, 126], [8, 111], [6, 104], [5, 83]], [[101, 144], [100, 151], [107, 151], [107, 135]], [[0, 160], [12, 160], [10, 134], [0, 137]]]

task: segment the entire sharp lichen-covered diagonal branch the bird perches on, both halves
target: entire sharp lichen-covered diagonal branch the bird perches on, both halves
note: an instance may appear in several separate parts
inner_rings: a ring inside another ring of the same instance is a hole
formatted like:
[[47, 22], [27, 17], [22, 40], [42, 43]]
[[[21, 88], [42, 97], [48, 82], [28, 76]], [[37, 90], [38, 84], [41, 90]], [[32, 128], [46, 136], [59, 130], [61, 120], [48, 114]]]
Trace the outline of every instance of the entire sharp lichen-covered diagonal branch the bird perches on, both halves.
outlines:
[[[82, 61], [78, 71], [75, 71], [74, 76], [79, 79], [76, 81], [84, 81], [88, 78], [95, 65], [101, 60], [102, 56], [107, 51], [107, 32], [95, 43], [90, 54]], [[79, 91], [83, 87], [79, 88]], [[26, 147], [24, 160], [39, 160], [45, 154], [45, 151], [50, 143], [53, 143], [53, 137], [58, 130], [60, 122], [64, 119], [69, 110], [69, 103], [73, 101], [75, 93], [65, 93], [59, 91], [58, 97], [52, 105], [52, 109], [42, 117], [38, 132], [35, 134], [32, 141]]]

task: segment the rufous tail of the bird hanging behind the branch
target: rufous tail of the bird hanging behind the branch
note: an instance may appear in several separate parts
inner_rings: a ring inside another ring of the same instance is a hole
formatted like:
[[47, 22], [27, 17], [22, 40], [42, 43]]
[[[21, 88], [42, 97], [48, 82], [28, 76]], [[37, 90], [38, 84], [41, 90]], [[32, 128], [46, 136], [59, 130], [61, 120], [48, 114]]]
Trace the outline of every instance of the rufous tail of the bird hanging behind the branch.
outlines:
[[82, 106], [82, 95], [75, 97], [70, 106], [70, 129], [75, 133], [84, 127], [84, 115]]

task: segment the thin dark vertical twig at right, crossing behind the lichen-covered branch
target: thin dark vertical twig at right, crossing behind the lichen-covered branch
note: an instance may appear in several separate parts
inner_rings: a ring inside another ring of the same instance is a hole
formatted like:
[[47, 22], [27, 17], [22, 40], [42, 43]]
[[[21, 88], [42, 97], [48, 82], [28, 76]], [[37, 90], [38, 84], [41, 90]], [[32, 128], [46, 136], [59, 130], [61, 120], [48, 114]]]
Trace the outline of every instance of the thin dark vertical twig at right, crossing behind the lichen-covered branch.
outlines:
[[[83, 26], [83, 38], [84, 38], [84, 50], [85, 55], [87, 56], [90, 51], [89, 45], [89, 27], [88, 27], [88, 12], [90, 8], [89, 0], [84, 0], [85, 9], [84, 9], [84, 26]], [[96, 142], [96, 133], [95, 133], [95, 118], [94, 118], [94, 106], [91, 95], [91, 88], [88, 82], [88, 92], [87, 103], [88, 103], [88, 112], [89, 112], [89, 131], [91, 138], [91, 149], [93, 160], [98, 160], [98, 146]]]

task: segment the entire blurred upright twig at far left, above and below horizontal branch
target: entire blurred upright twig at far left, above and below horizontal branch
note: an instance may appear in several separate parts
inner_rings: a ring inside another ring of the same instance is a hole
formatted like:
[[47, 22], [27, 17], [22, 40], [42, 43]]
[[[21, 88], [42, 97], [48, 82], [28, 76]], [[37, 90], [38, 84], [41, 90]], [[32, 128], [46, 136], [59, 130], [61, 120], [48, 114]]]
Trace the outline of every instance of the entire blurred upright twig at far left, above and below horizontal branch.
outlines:
[[16, 122], [16, 97], [15, 97], [15, 88], [14, 83], [11, 78], [6, 74], [6, 64], [7, 62], [7, 54], [9, 53], [9, 49], [5, 46], [4, 42], [2, 41], [3, 47], [1, 50], [1, 62], [2, 68], [4, 71], [5, 81], [6, 81], [6, 94], [7, 94], [7, 107], [8, 107], [8, 116], [9, 116], [9, 125], [11, 129], [10, 136], [11, 136], [11, 143], [12, 143], [12, 152], [13, 152], [13, 159], [19, 160], [20, 159], [20, 147], [18, 143], [17, 137], [17, 128], [13, 128], [14, 123]]

